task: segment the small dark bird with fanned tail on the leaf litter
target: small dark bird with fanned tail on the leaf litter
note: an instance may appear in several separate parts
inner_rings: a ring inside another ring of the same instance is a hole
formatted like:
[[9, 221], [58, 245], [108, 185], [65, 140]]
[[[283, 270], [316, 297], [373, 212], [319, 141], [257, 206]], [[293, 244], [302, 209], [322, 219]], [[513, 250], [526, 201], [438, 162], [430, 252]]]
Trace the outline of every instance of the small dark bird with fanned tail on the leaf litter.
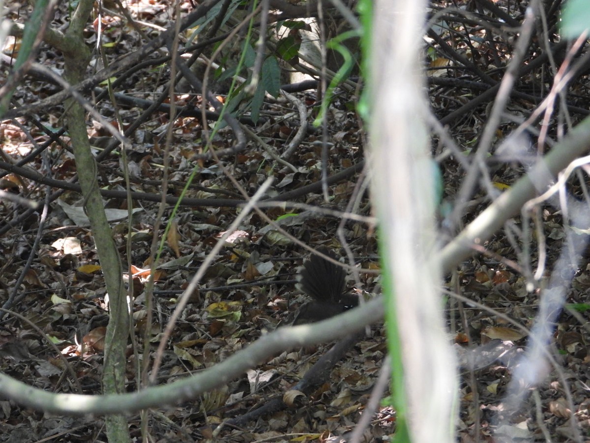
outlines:
[[[337, 260], [336, 255], [326, 247], [319, 247], [317, 251]], [[345, 278], [346, 271], [341, 266], [312, 255], [303, 265], [297, 280], [299, 289], [313, 301], [301, 308], [293, 324], [326, 320], [358, 306], [358, 297], [346, 292]]]

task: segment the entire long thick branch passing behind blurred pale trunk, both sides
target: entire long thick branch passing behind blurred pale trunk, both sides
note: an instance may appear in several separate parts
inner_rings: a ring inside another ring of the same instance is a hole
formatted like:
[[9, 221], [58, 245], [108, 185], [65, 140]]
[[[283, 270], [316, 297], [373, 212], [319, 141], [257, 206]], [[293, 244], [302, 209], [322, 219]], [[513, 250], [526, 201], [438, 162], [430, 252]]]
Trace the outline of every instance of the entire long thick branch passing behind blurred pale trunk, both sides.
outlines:
[[[453, 266], [473, 253], [470, 245], [484, 242], [497, 229], [500, 229], [504, 219], [518, 214], [523, 204], [535, 195], [535, 186], [532, 180], [535, 180], [537, 185], [548, 183], [552, 180], [552, 174], [555, 175], [565, 168], [570, 159], [584, 154], [588, 139], [590, 139], [590, 118], [573, 128], [565, 139], [529, 172], [529, 175], [520, 178], [510, 190], [502, 194], [476, 220], [471, 222], [453, 243], [445, 246], [438, 253], [443, 270], [450, 271]], [[245, 369], [254, 367], [257, 363], [286, 348], [333, 340], [341, 336], [342, 333], [362, 330], [363, 327], [359, 327], [356, 323], [358, 320], [364, 320], [367, 323], [368, 321], [378, 321], [382, 316], [382, 301], [376, 299], [366, 303], [363, 307], [350, 310], [338, 318], [317, 323], [314, 326], [314, 328], [319, 328], [317, 334], [312, 333], [309, 326], [281, 328], [228, 357], [227, 360], [219, 363], [215, 370], [205, 370], [189, 379], [171, 385], [152, 387], [139, 393], [114, 396], [59, 395], [58, 398], [62, 401], [58, 403], [55, 401], [55, 394], [27, 386], [2, 373], [0, 373], [0, 393], [31, 408], [71, 415], [137, 411], [152, 406], [161, 407], [165, 404], [196, 398], [199, 393], [224, 385], [230, 379], [242, 374]], [[323, 337], [323, 340], [320, 336]], [[220, 379], [220, 372], [225, 373], [227, 378]]]

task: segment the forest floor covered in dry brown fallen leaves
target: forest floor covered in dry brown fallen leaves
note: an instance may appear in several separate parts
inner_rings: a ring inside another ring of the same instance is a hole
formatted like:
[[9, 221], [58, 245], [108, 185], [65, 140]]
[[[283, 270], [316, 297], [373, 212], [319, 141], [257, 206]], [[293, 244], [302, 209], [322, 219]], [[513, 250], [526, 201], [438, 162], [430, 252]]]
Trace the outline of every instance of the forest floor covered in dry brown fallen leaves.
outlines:
[[[181, 11], [191, 8], [191, 4], [185, 2]], [[15, 15], [11, 18], [15, 21], [19, 20], [18, 9], [14, 2], [11, 11]], [[129, 11], [135, 19], [149, 22], [152, 30], [158, 26], [167, 27], [173, 17], [166, 2], [136, 2]], [[67, 20], [67, 8], [62, 5], [53, 25], [58, 27]], [[103, 17], [102, 44], [108, 48], [106, 55], [113, 61], [135, 50], [141, 39], [122, 23], [120, 14]], [[96, 22], [94, 25], [96, 27]], [[91, 45], [96, 44], [93, 29], [89, 25]], [[7, 45], [4, 54], [11, 56], [15, 50], [16, 45]], [[529, 55], [534, 57], [534, 54]], [[60, 69], [63, 64], [60, 57], [51, 48], [44, 48], [38, 61]], [[470, 102], [476, 92], [470, 89], [473, 84], [446, 82], [453, 72], [440, 69], [447, 66], [441, 63], [441, 58], [437, 59], [438, 65], [434, 61], [431, 63], [437, 74], [429, 77], [429, 87], [433, 113], [444, 120], [451, 111]], [[445, 60], [450, 62], [450, 59]], [[4, 81], [8, 72], [4, 59], [0, 64], [0, 79]], [[500, 80], [497, 73], [490, 72], [495, 80]], [[166, 92], [170, 74], [168, 65], [154, 64], [134, 73], [116, 92], [134, 99], [155, 100]], [[525, 90], [525, 86], [536, 81], [534, 73], [520, 80], [520, 87]], [[580, 86], [581, 97], [584, 87]], [[225, 100], [225, 85], [214, 85], [214, 88]], [[17, 89], [15, 103], [18, 106], [34, 104], [58, 90], [54, 84], [30, 76]], [[272, 176], [274, 181], [267, 197], [291, 202], [286, 205], [268, 201], [264, 208], [264, 214], [284, 232], [260, 214], [252, 213], [225, 240], [222, 252], [205, 273], [198, 290], [188, 294], [190, 302], [168, 338], [169, 346], [158, 356], [162, 359], [158, 382], [171, 383], [212, 367], [268, 331], [292, 323], [300, 308], [309, 302], [296, 289], [296, 275], [309, 258], [304, 245], [314, 249], [326, 246], [344, 257], [342, 262], [350, 263], [349, 258], [354, 258], [352, 264], [361, 272], [356, 280], [352, 276], [348, 278], [349, 291], [365, 298], [379, 294], [379, 276], [375, 273], [379, 269], [376, 233], [371, 223], [366, 176], [362, 172], [366, 133], [355, 112], [358, 92], [339, 90], [335, 96], [327, 118], [330, 146], [324, 153], [322, 129], [312, 125], [317, 115], [316, 90], [293, 92], [293, 96], [294, 100], [284, 96], [267, 97], [257, 124], [247, 125], [256, 137], [250, 138], [246, 149], [223, 158], [222, 162], [199, 157], [204, 152], [206, 134], [196, 113], [181, 114], [172, 122], [169, 141], [166, 141], [166, 131], [171, 125], [169, 112], [162, 109], [153, 112], [133, 134], [132, 148], [126, 151], [131, 190], [156, 195], [164, 189], [163, 181], [167, 180], [167, 195], [179, 197], [184, 193], [185, 203], [178, 210], [166, 205], [159, 218], [158, 201], [134, 200], [136, 212], [131, 224], [129, 254], [127, 201], [125, 198], [105, 201], [124, 267], [132, 266], [133, 272], [136, 341], [134, 346], [129, 346], [127, 386], [130, 392], [137, 389], [135, 368], [145, 359], [152, 361], [155, 357], [155, 348], [164, 337], [163, 330], [178, 298], [240, 213], [238, 203], [245, 200], [242, 191], [253, 195], [268, 177]], [[175, 95], [178, 106], [200, 106], [200, 97], [190, 91]], [[277, 155], [284, 152], [301, 127], [299, 110], [294, 103], [307, 110], [308, 129], [288, 161], [277, 162]], [[527, 113], [533, 108], [534, 104], [525, 99], [511, 103], [515, 113]], [[142, 113], [139, 105], [115, 108], [109, 100], [97, 103], [97, 109], [117, 127], [117, 113], [123, 125], [129, 125]], [[457, 156], [469, 158], [472, 154], [488, 111], [486, 104], [474, 105], [450, 123], [448, 131], [461, 146], [460, 152], [449, 151], [440, 136], [433, 136], [432, 151], [440, 164], [444, 182], [441, 233], [444, 233], [445, 211], [452, 207], [465, 174]], [[3, 158], [16, 163], [49, 141], [46, 157], [35, 155], [28, 159], [27, 167], [54, 181], [71, 181], [77, 171], [67, 133], [60, 135], [58, 142], [51, 142], [50, 134], [43, 130], [45, 126], [57, 132], [63, 123], [62, 113], [62, 106], [38, 113], [36, 118], [41, 125], [37, 126], [34, 119], [27, 117], [0, 122]], [[499, 141], [513, 128], [514, 123], [500, 126]], [[111, 141], [109, 132], [96, 120], [89, 119], [88, 135], [97, 154]], [[213, 146], [223, 151], [232, 148], [234, 142], [230, 129], [222, 128], [215, 135]], [[167, 170], [164, 167], [166, 157]], [[51, 172], [45, 170], [46, 164], [50, 165]], [[126, 182], [121, 164], [117, 150], [100, 162], [97, 180], [101, 187], [124, 193]], [[328, 187], [327, 201], [322, 195], [323, 165], [329, 177], [340, 174]], [[525, 174], [525, 168], [515, 162], [490, 162], [489, 172], [491, 184], [503, 190]], [[1, 171], [0, 174], [2, 190], [40, 203], [45, 200], [47, 184], [19, 174]], [[54, 186], [51, 192], [57, 188]], [[571, 183], [568, 189], [575, 196], [584, 193], [581, 184]], [[191, 204], [191, 199], [208, 201]], [[47, 220], [39, 231], [39, 213], [18, 219], [24, 209], [0, 201], [0, 218], [4, 220], [0, 223], [3, 229], [0, 234], [0, 301], [11, 311], [3, 316], [0, 327], [0, 370], [51, 392], [99, 394], [107, 320], [106, 291], [82, 203], [79, 193], [65, 191], [51, 203]], [[489, 199], [483, 191], [476, 194], [467, 205], [461, 223], [473, 220], [487, 204]], [[542, 224], [537, 229], [545, 234], [543, 264], [550, 270], [563, 245], [562, 215], [560, 210], [549, 206], [543, 207], [541, 212]], [[14, 226], [11, 225], [13, 220], [18, 220]], [[539, 265], [539, 252], [535, 245], [529, 261], [523, 262], [519, 255], [522, 242], [513, 239], [523, 235], [522, 230], [515, 227], [520, 220], [514, 222], [516, 224], [507, 226], [507, 231], [497, 233], [481, 245], [484, 253], [445, 276], [449, 340], [454, 343], [462, 363], [458, 433], [465, 442], [500, 441], [500, 435], [511, 440], [580, 441], [580, 435], [590, 433], [586, 385], [590, 356], [586, 346], [588, 321], [584, 313], [590, 285], [587, 264], [575, 270], [573, 285], [567, 294], [568, 309], [556, 320], [555, 343], [550, 354], [558, 364], [547, 367], [543, 385], [527, 387], [530, 393], [522, 413], [512, 416], [503, 428], [497, 426], [505, 388], [516, 358], [526, 348], [527, 330], [533, 324], [540, 293], [527, 291], [529, 280], [526, 277], [530, 269]], [[155, 271], [155, 315], [153, 324], [148, 327], [145, 289], [154, 236], [161, 240], [161, 254]], [[27, 263], [31, 254], [34, 259]], [[587, 258], [582, 263], [587, 263]], [[547, 275], [549, 271], [540, 281], [545, 281]], [[455, 297], [457, 294], [474, 303]], [[143, 355], [145, 340], [152, 344], [149, 357]], [[333, 436], [345, 435], [359, 422], [371, 398], [386, 356], [385, 329], [382, 324], [374, 325], [335, 367], [329, 369], [321, 385], [301, 395], [293, 394], [293, 386], [306, 377], [332, 345], [286, 351], [194, 402], [152, 411], [148, 418], [150, 441], [330, 441]], [[469, 367], [464, 364], [464, 356], [471, 349], [476, 349], [481, 360]], [[76, 374], [76, 379], [71, 373]], [[286, 393], [291, 393], [291, 397], [287, 398]], [[281, 398], [283, 402], [278, 402], [280, 406], [276, 409], [256, 415], [256, 411]], [[0, 400], [0, 406], [0, 442], [106, 441], [100, 419], [48, 416], [8, 400]], [[141, 441], [139, 414], [129, 416], [129, 424], [132, 436]], [[382, 404], [363, 438], [383, 441], [394, 431], [395, 411]]]

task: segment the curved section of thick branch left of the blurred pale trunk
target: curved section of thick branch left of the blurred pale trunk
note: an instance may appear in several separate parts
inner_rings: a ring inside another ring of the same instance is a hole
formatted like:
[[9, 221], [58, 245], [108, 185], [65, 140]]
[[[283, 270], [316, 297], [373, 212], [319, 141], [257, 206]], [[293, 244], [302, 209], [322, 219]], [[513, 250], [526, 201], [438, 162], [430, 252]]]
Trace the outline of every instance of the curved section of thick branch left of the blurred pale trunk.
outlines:
[[365, 324], [368, 323], [367, 319], [378, 321], [381, 318], [383, 318], [382, 301], [375, 299], [363, 307], [350, 310], [313, 326], [280, 328], [211, 369], [171, 385], [150, 387], [137, 393], [121, 395], [55, 394], [25, 385], [2, 373], [0, 373], [0, 393], [2, 396], [30, 408], [64, 415], [112, 414], [135, 412], [146, 408], [161, 408], [164, 405], [196, 399], [202, 393], [227, 384], [247, 369], [268, 360], [281, 351], [335, 340], [343, 335], [362, 331]]

